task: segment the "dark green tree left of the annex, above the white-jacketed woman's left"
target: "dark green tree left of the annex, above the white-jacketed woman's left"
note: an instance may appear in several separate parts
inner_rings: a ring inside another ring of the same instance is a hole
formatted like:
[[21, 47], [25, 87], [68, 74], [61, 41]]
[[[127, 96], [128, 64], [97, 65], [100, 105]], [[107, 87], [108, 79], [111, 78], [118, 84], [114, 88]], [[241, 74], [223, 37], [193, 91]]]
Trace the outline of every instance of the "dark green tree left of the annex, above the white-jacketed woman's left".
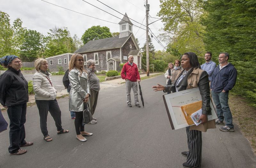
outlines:
[[24, 42], [20, 47], [20, 57], [22, 61], [32, 62], [37, 57], [41, 57], [44, 35], [36, 30], [26, 30]]

